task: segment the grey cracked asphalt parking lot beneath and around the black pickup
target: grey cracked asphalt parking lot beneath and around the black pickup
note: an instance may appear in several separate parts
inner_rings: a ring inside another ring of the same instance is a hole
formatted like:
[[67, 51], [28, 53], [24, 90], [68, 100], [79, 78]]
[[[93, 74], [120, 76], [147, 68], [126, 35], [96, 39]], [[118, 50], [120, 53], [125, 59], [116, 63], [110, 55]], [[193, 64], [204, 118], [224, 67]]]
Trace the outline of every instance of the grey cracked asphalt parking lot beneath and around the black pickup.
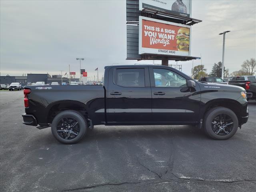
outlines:
[[194, 126], [95, 126], [74, 145], [22, 124], [23, 91], [0, 91], [1, 192], [255, 192], [256, 102], [229, 140]]

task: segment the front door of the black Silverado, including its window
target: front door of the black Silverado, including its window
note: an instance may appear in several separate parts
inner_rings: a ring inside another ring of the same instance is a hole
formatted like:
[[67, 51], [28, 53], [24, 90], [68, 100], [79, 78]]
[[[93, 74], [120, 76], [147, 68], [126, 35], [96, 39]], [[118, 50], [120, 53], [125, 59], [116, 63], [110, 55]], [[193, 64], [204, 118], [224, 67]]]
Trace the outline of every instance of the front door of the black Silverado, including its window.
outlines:
[[182, 74], [152, 67], [150, 81], [154, 122], [198, 122], [201, 97], [190, 92]]

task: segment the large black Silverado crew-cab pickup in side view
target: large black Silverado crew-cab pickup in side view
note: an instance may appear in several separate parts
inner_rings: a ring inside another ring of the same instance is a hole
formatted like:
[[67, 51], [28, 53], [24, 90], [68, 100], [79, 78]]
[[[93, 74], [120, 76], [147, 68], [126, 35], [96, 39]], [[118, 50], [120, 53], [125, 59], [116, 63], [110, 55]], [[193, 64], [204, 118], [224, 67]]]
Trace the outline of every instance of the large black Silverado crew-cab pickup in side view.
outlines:
[[217, 140], [232, 137], [249, 112], [244, 88], [196, 82], [167, 66], [106, 66], [104, 86], [26, 86], [23, 123], [51, 126], [73, 144], [94, 125], [196, 125]]

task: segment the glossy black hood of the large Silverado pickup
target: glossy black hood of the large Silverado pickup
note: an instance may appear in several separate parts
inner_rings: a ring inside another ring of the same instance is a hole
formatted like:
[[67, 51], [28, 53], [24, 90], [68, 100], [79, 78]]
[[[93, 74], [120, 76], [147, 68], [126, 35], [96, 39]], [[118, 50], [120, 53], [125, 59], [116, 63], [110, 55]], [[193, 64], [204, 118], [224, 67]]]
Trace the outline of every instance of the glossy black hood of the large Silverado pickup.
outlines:
[[207, 90], [245, 91], [245, 89], [240, 86], [229, 85], [229, 84], [200, 83], [200, 87], [202, 89], [207, 89]]

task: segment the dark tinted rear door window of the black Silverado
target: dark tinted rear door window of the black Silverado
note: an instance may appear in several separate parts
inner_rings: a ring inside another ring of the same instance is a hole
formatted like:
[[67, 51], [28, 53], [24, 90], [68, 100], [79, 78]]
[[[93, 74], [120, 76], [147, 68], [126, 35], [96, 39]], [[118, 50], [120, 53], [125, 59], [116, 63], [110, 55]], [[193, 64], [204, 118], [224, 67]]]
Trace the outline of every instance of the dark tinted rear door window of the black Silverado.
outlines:
[[117, 69], [116, 84], [123, 87], [144, 87], [144, 68]]

